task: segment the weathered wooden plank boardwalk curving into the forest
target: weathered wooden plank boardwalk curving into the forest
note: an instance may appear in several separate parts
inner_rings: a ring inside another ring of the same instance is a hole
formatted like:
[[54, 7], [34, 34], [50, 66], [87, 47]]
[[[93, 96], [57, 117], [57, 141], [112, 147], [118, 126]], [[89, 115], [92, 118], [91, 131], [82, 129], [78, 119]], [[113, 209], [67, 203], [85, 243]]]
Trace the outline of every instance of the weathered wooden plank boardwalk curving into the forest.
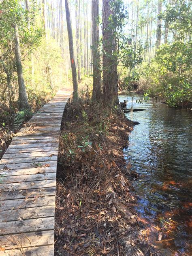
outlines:
[[60, 90], [16, 134], [0, 174], [0, 256], [54, 254], [60, 125], [72, 90]]

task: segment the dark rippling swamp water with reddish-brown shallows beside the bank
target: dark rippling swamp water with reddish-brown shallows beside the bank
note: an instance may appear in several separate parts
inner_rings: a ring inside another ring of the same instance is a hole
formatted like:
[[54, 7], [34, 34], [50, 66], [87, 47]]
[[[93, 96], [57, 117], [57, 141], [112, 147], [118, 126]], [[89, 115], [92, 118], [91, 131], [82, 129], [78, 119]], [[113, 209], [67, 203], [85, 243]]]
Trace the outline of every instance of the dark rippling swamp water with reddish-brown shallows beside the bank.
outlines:
[[192, 255], [192, 111], [152, 100], [138, 104], [139, 98], [119, 96], [128, 100], [127, 108], [146, 109], [126, 113], [141, 124], [124, 149], [131, 170], [139, 173], [132, 185], [143, 232], [163, 255]]

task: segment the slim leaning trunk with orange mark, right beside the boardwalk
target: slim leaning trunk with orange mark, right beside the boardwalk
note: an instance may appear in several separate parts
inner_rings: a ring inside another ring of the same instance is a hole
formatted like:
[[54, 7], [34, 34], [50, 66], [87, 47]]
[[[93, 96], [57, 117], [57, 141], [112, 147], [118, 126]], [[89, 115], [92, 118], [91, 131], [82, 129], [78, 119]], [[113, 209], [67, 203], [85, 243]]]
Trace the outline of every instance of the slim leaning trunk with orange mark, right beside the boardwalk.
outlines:
[[67, 21], [67, 31], [68, 31], [68, 41], [69, 41], [70, 64], [71, 64], [72, 77], [73, 77], [73, 98], [74, 98], [74, 101], [77, 101], [78, 99], [77, 71], [76, 71], [75, 56], [73, 51], [73, 34], [72, 34], [72, 28], [71, 28], [68, 0], [65, 0], [65, 11], [66, 11], [66, 21]]

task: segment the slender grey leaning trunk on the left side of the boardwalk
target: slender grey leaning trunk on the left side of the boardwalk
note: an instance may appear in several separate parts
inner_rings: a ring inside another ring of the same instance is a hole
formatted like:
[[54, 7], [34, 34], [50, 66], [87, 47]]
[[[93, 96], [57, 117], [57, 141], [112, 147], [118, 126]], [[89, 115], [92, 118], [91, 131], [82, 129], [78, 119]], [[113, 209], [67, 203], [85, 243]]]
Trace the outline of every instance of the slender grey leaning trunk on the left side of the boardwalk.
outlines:
[[23, 68], [21, 64], [21, 51], [19, 46], [19, 33], [17, 24], [14, 26], [15, 30], [15, 60], [16, 60], [16, 67], [17, 67], [17, 77], [18, 77], [18, 84], [19, 84], [19, 109], [30, 109], [30, 105], [28, 103], [28, 97], [26, 93], [25, 82], [23, 78]]

